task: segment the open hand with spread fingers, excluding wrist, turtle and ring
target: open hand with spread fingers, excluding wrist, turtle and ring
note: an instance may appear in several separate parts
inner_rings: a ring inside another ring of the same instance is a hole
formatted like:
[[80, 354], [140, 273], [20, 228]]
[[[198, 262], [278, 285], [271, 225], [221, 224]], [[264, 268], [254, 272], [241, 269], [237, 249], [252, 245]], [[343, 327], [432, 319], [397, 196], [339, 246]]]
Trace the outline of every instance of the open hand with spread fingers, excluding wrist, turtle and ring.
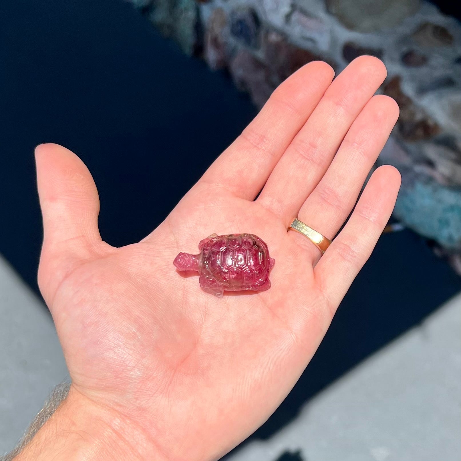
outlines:
[[[299, 217], [333, 238], [348, 218], [398, 116], [393, 100], [373, 96], [385, 76], [371, 57], [333, 83], [329, 65], [304, 66], [167, 219], [123, 248], [100, 238], [85, 165], [57, 145], [36, 149], [39, 284], [75, 392], [130, 421], [169, 460], [217, 459], [267, 419], [394, 206], [400, 177], [385, 166], [321, 259], [306, 237], [287, 232]], [[276, 261], [270, 290], [219, 299], [172, 264], [212, 233], [243, 232], [260, 236]]]

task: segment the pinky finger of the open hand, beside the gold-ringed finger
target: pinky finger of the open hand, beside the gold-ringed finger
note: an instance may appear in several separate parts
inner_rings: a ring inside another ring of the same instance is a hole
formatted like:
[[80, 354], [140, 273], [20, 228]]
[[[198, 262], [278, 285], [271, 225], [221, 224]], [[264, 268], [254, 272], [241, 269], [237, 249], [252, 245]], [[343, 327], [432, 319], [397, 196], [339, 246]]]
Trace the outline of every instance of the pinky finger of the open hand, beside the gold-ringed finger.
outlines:
[[378, 242], [394, 209], [400, 182], [396, 168], [379, 167], [349, 221], [315, 266], [318, 287], [333, 313]]

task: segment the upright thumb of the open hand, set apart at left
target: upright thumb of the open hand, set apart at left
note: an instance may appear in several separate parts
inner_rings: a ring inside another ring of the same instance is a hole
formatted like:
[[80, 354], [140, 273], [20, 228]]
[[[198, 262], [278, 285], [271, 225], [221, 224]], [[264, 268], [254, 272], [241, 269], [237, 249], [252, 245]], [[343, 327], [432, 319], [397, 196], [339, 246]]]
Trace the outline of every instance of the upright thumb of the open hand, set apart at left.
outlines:
[[99, 197], [88, 168], [70, 150], [41, 144], [35, 163], [44, 234], [38, 282], [47, 300], [66, 273], [101, 243]]

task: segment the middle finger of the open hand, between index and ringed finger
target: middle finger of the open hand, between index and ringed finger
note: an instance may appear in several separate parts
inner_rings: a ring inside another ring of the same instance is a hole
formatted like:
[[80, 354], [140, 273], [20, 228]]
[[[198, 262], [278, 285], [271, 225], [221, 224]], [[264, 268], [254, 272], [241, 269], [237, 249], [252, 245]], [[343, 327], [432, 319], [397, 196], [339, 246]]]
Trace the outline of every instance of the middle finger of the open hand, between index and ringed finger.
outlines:
[[287, 222], [297, 215], [386, 75], [384, 64], [371, 56], [341, 72], [267, 179], [257, 199], [261, 205]]

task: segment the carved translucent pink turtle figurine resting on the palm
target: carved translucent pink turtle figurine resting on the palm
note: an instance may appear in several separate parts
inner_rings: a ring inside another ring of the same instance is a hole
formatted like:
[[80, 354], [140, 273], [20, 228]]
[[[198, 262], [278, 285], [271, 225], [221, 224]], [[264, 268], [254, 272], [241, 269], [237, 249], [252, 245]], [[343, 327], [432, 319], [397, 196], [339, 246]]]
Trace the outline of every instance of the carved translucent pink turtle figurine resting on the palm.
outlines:
[[275, 260], [258, 236], [213, 234], [199, 243], [199, 254], [179, 253], [173, 264], [179, 271], [197, 271], [200, 286], [221, 298], [224, 290], [264, 291], [271, 288], [269, 271]]

